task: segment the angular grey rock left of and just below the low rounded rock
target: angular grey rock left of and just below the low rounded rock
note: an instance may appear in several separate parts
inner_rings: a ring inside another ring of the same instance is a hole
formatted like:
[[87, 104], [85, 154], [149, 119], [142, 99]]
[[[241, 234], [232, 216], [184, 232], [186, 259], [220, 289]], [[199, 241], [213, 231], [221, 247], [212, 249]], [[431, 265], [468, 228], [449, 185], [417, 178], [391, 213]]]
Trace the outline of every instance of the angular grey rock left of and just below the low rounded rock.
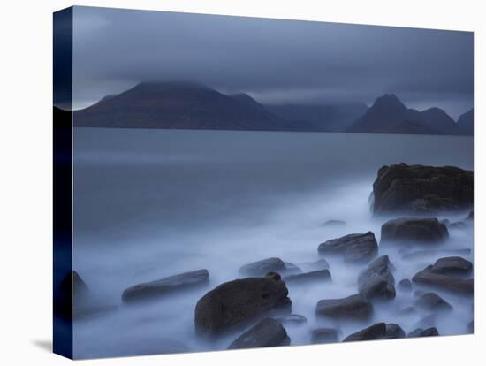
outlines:
[[319, 245], [320, 254], [344, 255], [348, 263], [367, 263], [378, 253], [375, 234], [354, 233]]

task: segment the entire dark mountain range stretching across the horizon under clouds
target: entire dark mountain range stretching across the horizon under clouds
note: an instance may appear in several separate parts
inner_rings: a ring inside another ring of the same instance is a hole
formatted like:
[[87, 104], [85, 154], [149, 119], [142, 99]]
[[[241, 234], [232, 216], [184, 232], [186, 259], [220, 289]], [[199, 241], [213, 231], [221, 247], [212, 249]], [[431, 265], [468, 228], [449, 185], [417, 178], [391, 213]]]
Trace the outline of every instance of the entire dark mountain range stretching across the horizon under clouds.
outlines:
[[74, 111], [79, 127], [467, 134], [474, 112], [458, 122], [439, 108], [416, 111], [396, 95], [364, 103], [263, 105], [250, 95], [225, 95], [187, 82], [145, 82]]

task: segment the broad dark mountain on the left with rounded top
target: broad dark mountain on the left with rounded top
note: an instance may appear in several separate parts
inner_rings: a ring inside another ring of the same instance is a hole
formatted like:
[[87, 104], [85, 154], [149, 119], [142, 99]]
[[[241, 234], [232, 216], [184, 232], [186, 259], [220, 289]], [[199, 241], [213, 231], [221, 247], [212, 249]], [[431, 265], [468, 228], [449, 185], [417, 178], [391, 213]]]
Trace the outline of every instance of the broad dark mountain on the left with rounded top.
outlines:
[[[141, 83], [74, 112], [76, 126], [295, 131], [249, 95], [185, 82]], [[300, 127], [300, 126], [298, 126]], [[306, 126], [302, 126], [306, 129]]]

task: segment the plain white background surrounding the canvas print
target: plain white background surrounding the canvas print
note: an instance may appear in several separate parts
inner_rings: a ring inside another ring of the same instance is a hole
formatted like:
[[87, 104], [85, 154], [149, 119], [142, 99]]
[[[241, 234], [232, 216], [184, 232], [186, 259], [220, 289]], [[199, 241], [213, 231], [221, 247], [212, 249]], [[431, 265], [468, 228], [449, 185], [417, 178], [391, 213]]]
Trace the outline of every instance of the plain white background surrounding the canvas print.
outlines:
[[[88, 361], [94, 365], [154, 364], [484, 364], [483, 219], [486, 181], [486, 11], [475, 1], [98, 0], [98, 5], [167, 11], [312, 19], [475, 31], [475, 335], [280, 347], [188, 355]], [[56, 0], [4, 0], [0, 21], [0, 360], [4, 365], [67, 364], [49, 351], [52, 276], [52, 15], [72, 5]], [[439, 65], [440, 67], [440, 65]], [[480, 103], [482, 101], [482, 103]], [[85, 364], [85, 362], [79, 362]]]

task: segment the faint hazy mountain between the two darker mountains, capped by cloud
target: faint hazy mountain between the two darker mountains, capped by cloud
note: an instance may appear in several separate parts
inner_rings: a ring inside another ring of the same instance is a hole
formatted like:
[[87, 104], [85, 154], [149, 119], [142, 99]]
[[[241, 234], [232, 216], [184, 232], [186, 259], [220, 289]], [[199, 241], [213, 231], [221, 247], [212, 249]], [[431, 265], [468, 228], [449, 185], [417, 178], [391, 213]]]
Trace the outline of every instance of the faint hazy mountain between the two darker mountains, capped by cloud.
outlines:
[[323, 132], [345, 132], [368, 109], [364, 103], [339, 103], [336, 105], [289, 103], [265, 105], [265, 107], [287, 122], [305, 122], [313, 126], [316, 131]]

